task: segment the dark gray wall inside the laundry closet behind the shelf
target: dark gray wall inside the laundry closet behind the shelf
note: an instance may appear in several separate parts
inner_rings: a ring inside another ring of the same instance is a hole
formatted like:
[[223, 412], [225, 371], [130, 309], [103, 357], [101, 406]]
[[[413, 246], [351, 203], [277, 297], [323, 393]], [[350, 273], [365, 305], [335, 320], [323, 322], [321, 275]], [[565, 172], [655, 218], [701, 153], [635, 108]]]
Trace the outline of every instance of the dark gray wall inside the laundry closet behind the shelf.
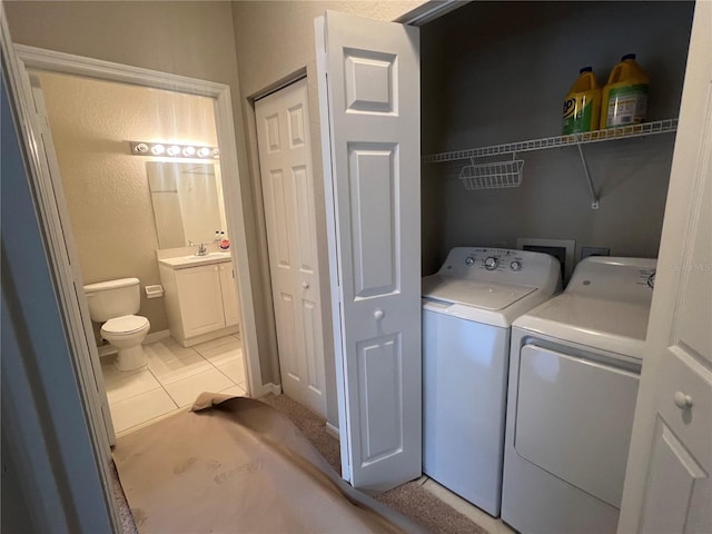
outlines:
[[[635, 52], [651, 78], [649, 120], [678, 116], [692, 2], [474, 2], [423, 28], [423, 154], [561, 134], [563, 98], [592, 66], [603, 86]], [[661, 37], [662, 36], [662, 37]], [[459, 168], [423, 174], [423, 273], [451, 247], [575, 239], [612, 255], [656, 257], [674, 135], [521, 154], [516, 189], [466, 191]]]

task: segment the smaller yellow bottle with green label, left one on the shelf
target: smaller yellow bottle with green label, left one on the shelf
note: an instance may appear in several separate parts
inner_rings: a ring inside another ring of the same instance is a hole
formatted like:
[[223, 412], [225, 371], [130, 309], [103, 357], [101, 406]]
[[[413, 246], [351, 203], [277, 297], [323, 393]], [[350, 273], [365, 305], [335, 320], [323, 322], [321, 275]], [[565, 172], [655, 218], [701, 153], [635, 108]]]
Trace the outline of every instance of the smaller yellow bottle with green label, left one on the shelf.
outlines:
[[564, 99], [564, 136], [599, 129], [601, 86], [593, 69], [584, 67]]

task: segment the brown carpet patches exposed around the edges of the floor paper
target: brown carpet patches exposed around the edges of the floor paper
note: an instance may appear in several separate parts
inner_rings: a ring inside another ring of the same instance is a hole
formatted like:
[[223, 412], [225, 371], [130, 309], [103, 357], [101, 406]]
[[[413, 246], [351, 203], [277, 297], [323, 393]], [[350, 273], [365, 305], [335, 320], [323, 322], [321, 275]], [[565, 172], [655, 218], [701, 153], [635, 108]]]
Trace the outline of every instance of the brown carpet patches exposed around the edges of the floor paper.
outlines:
[[[259, 400], [286, 415], [324, 456], [329, 465], [340, 472], [338, 441], [326, 432], [325, 421], [286, 395], [267, 395]], [[119, 503], [121, 525], [125, 534], [137, 534], [121, 484], [115, 475], [115, 496]], [[436, 534], [486, 534], [481, 525], [455, 511], [422, 487], [422, 481], [403, 484], [376, 497], [377, 501], [411, 517]]]

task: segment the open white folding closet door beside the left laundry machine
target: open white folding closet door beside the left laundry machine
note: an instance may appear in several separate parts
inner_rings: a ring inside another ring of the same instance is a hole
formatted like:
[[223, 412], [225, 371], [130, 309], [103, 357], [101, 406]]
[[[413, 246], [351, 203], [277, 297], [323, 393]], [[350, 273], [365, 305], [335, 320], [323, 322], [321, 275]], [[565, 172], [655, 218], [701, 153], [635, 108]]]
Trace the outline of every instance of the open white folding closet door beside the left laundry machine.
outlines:
[[418, 39], [316, 21], [342, 475], [363, 490], [422, 468]]

